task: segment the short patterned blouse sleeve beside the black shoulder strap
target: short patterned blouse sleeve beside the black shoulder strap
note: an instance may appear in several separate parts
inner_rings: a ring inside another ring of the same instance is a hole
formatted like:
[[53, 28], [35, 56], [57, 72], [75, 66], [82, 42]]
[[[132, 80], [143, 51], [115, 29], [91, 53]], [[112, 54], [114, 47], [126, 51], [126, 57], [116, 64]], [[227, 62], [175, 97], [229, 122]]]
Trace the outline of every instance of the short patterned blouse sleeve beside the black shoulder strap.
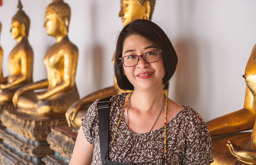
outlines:
[[90, 144], [94, 144], [95, 137], [99, 133], [98, 109], [97, 109], [98, 101], [99, 99], [92, 103], [92, 105], [88, 108], [84, 117], [81, 119], [82, 120], [81, 125], [83, 128], [85, 138]]

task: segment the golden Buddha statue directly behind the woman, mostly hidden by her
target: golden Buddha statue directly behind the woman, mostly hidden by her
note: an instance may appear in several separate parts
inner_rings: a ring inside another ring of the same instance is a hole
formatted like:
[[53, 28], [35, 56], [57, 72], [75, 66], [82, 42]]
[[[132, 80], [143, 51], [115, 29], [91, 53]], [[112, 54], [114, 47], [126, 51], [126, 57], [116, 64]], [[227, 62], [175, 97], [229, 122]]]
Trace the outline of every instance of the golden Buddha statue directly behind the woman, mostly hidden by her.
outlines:
[[[119, 17], [122, 18], [122, 22], [124, 26], [126, 26], [129, 22], [132, 22], [136, 19], [151, 20], [154, 6], [155, 6], [155, 0], [121, 0], [121, 10], [119, 13]], [[114, 60], [112, 60], [112, 62], [114, 62]], [[168, 87], [169, 87], [169, 82], [163, 85], [163, 88], [167, 95], [168, 95]], [[66, 116], [68, 125], [74, 126], [75, 127], [74, 131], [78, 131], [82, 123], [81, 118], [87, 112], [87, 109], [93, 103], [93, 101], [99, 98], [108, 97], [108, 96], [115, 95], [122, 92], [126, 92], [126, 91], [122, 91], [116, 85], [116, 79], [115, 79], [113, 86], [100, 89], [76, 101], [66, 111], [65, 116]]]

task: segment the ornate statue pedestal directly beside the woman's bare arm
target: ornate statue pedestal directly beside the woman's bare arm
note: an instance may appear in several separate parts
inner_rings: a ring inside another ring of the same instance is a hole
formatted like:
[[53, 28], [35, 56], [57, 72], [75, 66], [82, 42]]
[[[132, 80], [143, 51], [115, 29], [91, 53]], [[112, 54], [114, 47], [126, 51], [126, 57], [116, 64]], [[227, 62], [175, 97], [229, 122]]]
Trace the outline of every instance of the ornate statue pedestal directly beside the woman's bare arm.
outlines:
[[54, 150], [55, 155], [48, 155], [43, 158], [46, 165], [68, 165], [72, 156], [77, 133], [74, 133], [74, 127], [56, 126], [52, 128], [47, 136], [47, 142], [50, 148]]

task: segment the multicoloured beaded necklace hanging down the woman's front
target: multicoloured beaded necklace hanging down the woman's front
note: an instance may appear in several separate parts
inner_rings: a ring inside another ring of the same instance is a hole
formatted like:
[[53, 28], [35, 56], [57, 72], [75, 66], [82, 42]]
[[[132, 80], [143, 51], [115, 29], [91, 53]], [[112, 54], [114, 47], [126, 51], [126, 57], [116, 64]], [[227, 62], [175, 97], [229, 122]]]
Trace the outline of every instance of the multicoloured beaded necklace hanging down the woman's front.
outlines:
[[[130, 96], [131, 96], [132, 93], [133, 93], [133, 91], [131, 91], [129, 93], [128, 98], [126, 100], [126, 103], [125, 103], [125, 105], [124, 105], [124, 107], [122, 109], [122, 113], [121, 113], [121, 116], [120, 116], [118, 124], [117, 124], [117, 128], [116, 128], [115, 133], [114, 133], [114, 137], [113, 137], [113, 140], [112, 140], [112, 143], [111, 143], [111, 147], [113, 146], [113, 143], [114, 143], [114, 141], [116, 139], [119, 124], [120, 124], [121, 119], [122, 119], [122, 117], [124, 115], [127, 102], [129, 101]], [[164, 159], [164, 162], [165, 162], [165, 159], [166, 159], [166, 117], [167, 117], [167, 97], [166, 97], [165, 94], [164, 94], [164, 97], [165, 97], [165, 123], [164, 123], [164, 157], [163, 157], [163, 159]]]

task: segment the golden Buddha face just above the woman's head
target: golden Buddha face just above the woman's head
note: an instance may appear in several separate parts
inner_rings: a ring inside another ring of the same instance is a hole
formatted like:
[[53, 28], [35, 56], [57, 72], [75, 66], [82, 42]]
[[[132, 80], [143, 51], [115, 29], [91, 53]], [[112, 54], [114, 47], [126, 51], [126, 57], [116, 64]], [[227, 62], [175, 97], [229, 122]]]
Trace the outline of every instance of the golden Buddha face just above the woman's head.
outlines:
[[146, 5], [140, 5], [136, 0], [123, 0], [121, 3], [121, 10], [119, 17], [122, 18], [124, 26], [136, 19], [148, 19], [145, 18], [147, 11]]

